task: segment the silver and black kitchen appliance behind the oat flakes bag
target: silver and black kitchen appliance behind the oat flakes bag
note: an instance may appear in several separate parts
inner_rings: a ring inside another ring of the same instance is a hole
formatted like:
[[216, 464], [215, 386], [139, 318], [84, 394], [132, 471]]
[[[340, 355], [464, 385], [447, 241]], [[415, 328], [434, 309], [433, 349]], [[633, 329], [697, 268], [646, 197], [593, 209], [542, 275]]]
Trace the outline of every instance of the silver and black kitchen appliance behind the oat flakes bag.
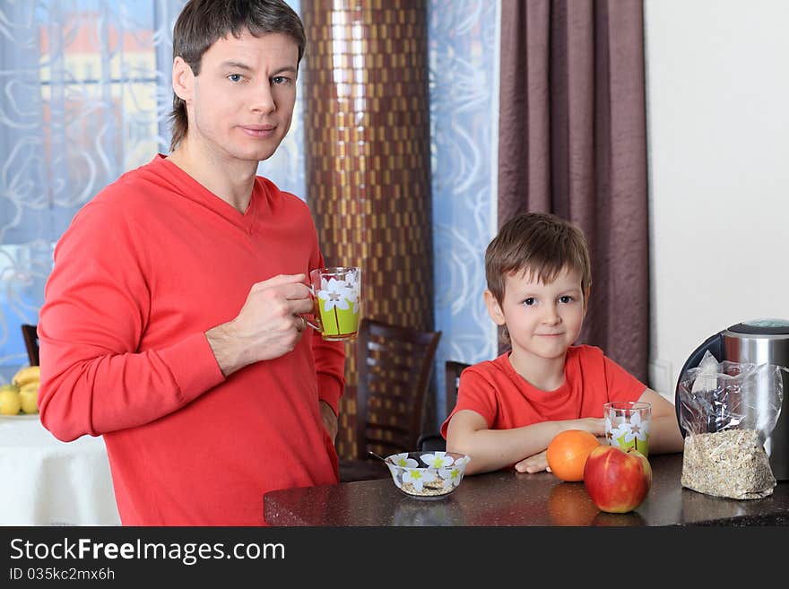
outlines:
[[[698, 367], [706, 351], [715, 356], [718, 362], [767, 363], [789, 368], [789, 321], [756, 319], [738, 323], [711, 335], [690, 354], [680, 370], [674, 394], [677, 420], [683, 437], [685, 430], [681, 425], [680, 383], [686, 370]], [[773, 476], [777, 481], [786, 481], [789, 480], [789, 373], [786, 370], [781, 373], [784, 379], [784, 400], [776, 429], [765, 441], [765, 451], [770, 457]], [[755, 406], [755, 411], [759, 411], [759, 403], [755, 403]]]

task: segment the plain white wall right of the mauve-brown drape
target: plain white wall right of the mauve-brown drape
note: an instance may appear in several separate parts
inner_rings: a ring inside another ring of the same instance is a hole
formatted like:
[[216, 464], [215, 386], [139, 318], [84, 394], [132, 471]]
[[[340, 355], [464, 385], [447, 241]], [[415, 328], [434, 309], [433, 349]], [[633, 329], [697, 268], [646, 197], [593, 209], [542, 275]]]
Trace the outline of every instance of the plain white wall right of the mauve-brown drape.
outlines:
[[789, 3], [646, 0], [650, 385], [729, 325], [789, 319]]

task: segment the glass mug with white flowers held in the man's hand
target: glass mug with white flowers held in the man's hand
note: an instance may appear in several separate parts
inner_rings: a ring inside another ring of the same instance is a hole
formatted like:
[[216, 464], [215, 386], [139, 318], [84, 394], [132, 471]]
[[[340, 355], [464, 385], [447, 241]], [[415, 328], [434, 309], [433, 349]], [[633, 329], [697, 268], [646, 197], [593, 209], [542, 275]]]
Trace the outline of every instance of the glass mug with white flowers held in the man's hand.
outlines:
[[304, 320], [329, 342], [351, 340], [359, 333], [361, 268], [316, 268], [309, 273], [315, 310]]

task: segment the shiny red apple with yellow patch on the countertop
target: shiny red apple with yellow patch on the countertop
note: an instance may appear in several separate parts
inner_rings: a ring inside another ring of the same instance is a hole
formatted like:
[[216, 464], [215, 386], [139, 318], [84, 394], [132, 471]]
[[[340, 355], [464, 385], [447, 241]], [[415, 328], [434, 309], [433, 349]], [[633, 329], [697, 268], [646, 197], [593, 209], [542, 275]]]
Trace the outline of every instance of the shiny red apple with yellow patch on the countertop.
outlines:
[[610, 514], [624, 514], [641, 505], [652, 486], [652, 467], [635, 448], [598, 446], [584, 467], [584, 486], [594, 505]]

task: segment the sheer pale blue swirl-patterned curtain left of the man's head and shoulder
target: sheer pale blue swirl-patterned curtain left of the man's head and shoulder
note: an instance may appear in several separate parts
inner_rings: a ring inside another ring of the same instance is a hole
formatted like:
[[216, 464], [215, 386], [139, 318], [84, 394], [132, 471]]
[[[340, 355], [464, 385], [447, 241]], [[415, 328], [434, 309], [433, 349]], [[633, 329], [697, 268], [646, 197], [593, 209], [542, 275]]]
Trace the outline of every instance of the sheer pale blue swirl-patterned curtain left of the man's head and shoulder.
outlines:
[[184, 0], [0, 1], [0, 383], [27, 363], [52, 249], [93, 195], [169, 148]]

